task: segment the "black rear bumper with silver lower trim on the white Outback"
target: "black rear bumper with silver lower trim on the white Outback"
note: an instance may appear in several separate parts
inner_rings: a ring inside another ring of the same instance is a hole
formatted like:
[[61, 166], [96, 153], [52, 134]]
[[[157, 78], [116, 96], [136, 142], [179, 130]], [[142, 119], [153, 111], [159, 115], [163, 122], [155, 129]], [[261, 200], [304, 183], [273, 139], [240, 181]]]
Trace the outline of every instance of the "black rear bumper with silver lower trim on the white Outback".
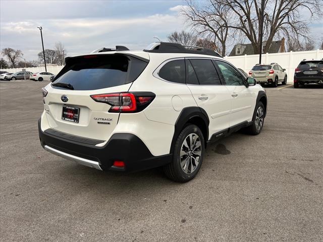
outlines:
[[[56, 155], [79, 164], [101, 170], [135, 172], [171, 162], [172, 154], [153, 156], [146, 145], [135, 135], [114, 134], [103, 147], [85, 144], [41, 131], [38, 120], [38, 133], [41, 146]], [[64, 134], [64, 133], [62, 133]], [[113, 166], [115, 160], [123, 161], [125, 167]]]

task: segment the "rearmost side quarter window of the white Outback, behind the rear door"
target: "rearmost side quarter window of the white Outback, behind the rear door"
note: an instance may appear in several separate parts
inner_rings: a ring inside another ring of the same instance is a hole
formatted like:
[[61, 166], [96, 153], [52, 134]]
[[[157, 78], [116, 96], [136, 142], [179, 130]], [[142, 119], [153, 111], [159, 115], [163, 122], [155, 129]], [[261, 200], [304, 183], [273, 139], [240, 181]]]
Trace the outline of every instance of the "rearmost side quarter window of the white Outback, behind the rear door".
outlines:
[[185, 62], [178, 59], [166, 63], [158, 72], [159, 77], [169, 82], [185, 84]]

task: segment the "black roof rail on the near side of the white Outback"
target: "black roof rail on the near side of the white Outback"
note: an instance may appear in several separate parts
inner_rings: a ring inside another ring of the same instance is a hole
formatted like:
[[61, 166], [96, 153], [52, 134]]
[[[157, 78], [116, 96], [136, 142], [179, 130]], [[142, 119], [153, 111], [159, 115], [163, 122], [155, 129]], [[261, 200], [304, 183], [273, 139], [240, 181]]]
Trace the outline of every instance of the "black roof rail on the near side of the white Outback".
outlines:
[[181, 45], [178, 43], [168, 43], [168, 42], [155, 42], [147, 46], [147, 49], [144, 49], [145, 52], [152, 53], [188, 53], [188, 54], [206, 54], [217, 57], [223, 57], [218, 52], [193, 45]]

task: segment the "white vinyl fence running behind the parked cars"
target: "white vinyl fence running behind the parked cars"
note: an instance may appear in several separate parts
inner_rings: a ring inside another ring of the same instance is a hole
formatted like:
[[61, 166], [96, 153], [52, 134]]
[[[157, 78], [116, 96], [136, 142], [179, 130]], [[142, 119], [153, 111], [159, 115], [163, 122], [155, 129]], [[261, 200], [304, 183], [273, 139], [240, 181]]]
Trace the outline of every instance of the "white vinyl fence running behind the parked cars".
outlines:
[[[252, 55], [241, 55], [241, 56], [225, 56], [224, 57], [227, 61], [231, 62], [237, 68], [241, 68], [246, 73], [248, 73], [252, 67], [259, 62], [259, 55], [252, 54]], [[322, 59], [323, 58], [323, 50], [309, 50], [309, 51], [298, 51], [298, 52], [285, 52], [285, 53], [273, 53], [268, 54], [265, 53], [262, 55], [262, 64], [271, 64], [277, 63], [283, 69], [286, 69], [288, 82], [293, 83], [294, 78], [294, 71], [297, 68], [298, 64], [303, 59]], [[47, 67], [47, 72], [57, 75], [64, 66], [57, 66], [57, 67]], [[7, 72], [19, 72], [21, 68], [11, 68], [11, 69], [3, 69], [1, 71]], [[36, 72], [44, 72], [45, 67], [32, 67], [26, 68], [26, 71], [30, 71], [32, 73]]]

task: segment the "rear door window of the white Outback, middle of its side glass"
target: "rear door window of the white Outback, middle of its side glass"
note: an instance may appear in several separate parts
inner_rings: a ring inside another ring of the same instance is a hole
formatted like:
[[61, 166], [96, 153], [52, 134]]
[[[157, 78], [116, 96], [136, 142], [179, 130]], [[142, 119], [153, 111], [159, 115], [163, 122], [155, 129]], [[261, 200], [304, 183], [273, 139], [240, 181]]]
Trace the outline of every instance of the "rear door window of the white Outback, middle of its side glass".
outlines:
[[210, 59], [190, 59], [200, 85], [221, 85], [216, 68]]

